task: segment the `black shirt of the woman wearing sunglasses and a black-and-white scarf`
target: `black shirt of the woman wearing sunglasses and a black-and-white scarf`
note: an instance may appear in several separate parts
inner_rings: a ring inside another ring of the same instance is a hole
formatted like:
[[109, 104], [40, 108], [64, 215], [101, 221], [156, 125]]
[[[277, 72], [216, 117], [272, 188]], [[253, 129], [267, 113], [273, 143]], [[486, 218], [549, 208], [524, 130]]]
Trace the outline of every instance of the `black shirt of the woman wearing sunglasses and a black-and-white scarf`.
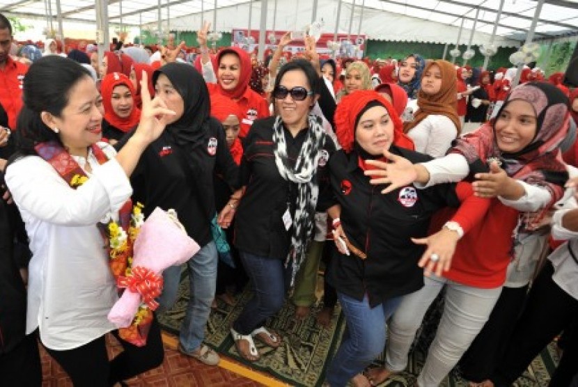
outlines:
[[[277, 170], [273, 153], [274, 122], [275, 117], [255, 120], [244, 139], [240, 180], [247, 190], [237, 209], [235, 245], [239, 250], [254, 255], [285, 259], [289, 253], [292, 228], [286, 230], [282, 217], [289, 204], [291, 219], [295, 219], [297, 184], [284, 180]], [[288, 129], [283, 130], [288, 158], [290, 163], [295, 163], [307, 138], [307, 130], [295, 137]], [[325, 136], [315, 177], [319, 184], [318, 212], [327, 210], [333, 203], [327, 164], [334, 151], [335, 144]]]

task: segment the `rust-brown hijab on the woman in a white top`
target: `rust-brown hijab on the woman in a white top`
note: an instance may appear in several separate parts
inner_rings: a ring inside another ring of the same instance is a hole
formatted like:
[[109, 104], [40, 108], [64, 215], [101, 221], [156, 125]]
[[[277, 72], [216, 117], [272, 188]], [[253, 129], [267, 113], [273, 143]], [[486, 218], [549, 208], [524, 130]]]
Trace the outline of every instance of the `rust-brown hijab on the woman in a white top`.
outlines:
[[458, 90], [456, 81], [456, 72], [454, 65], [448, 61], [430, 61], [428, 65], [425, 66], [423, 72], [427, 72], [432, 65], [437, 65], [440, 72], [442, 72], [442, 87], [439, 88], [439, 92], [435, 95], [428, 95], [423, 93], [423, 90], [419, 90], [417, 97], [417, 105], [419, 106], [418, 111], [414, 116], [414, 120], [410, 123], [406, 123], [403, 127], [405, 133], [413, 129], [421, 123], [430, 114], [437, 114], [441, 116], [446, 116], [452, 120], [455, 128], [460, 131], [460, 118], [458, 118]]

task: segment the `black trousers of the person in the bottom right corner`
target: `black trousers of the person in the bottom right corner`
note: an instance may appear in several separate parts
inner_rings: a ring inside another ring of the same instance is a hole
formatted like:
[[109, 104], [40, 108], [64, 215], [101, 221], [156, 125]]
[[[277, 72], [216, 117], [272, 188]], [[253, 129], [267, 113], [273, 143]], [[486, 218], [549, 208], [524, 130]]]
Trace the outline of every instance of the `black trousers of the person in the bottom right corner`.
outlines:
[[494, 386], [511, 386], [540, 351], [578, 316], [578, 300], [556, 285], [552, 274], [554, 267], [547, 261], [494, 372]]

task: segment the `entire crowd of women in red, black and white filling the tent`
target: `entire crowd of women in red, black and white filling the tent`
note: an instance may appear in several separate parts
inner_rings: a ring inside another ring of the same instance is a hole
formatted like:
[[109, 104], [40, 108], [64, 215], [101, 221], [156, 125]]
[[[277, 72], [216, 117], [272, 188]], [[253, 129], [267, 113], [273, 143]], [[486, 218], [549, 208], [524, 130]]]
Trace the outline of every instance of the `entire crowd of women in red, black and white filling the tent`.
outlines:
[[[138, 47], [102, 63], [80, 51], [33, 58], [4, 141], [15, 205], [2, 203], [1, 237], [31, 251], [20, 264], [27, 301], [16, 261], [3, 262], [15, 285], [0, 294], [22, 317], [7, 324], [0, 308], [10, 385], [39, 385], [36, 338], [78, 386], [123, 384], [162, 363], [154, 314], [146, 345], [107, 319], [118, 272], [100, 230], [136, 203], [145, 216], [174, 209], [201, 246], [164, 271], [157, 301], [171, 308], [186, 269], [178, 349], [205, 364], [219, 363], [203, 343], [215, 299], [232, 303], [250, 283], [231, 335], [258, 361], [254, 340], [283, 343], [266, 324], [289, 294], [296, 319], [311, 313], [323, 260], [317, 321], [331, 324], [337, 302], [346, 321], [327, 386], [405, 370], [436, 299], [419, 386], [439, 386], [456, 366], [471, 386], [510, 386], [562, 332], [550, 386], [578, 383], [578, 90], [538, 69], [514, 86], [510, 70], [419, 54], [338, 63], [311, 37], [287, 58], [289, 35], [265, 68], [237, 47], [211, 53], [209, 29], [195, 63], [178, 60], [180, 47], [158, 61]], [[123, 346], [110, 361], [109, 332]], [[384, 367], [368, 368], [382, 353]]]

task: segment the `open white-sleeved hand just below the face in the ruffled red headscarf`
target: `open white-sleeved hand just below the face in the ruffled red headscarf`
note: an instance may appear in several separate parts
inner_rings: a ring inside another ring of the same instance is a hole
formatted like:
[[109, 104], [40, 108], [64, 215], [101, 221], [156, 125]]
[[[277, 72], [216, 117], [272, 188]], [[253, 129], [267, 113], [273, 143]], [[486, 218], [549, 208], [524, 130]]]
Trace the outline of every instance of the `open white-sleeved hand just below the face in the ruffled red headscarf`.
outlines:
[[389, 192], [412, 184], [416, 180], [417, 172], [412, 161], [393, 155], [389, 150], [384, 150], [383, 155], [389, 162], [367, 160], [367, 164], [373, 165], [377, 169], [365, 171], [365, 174], [371, 177], [370, 184], [389, 184], [382, 190], [382, 194], [389, 194]]

